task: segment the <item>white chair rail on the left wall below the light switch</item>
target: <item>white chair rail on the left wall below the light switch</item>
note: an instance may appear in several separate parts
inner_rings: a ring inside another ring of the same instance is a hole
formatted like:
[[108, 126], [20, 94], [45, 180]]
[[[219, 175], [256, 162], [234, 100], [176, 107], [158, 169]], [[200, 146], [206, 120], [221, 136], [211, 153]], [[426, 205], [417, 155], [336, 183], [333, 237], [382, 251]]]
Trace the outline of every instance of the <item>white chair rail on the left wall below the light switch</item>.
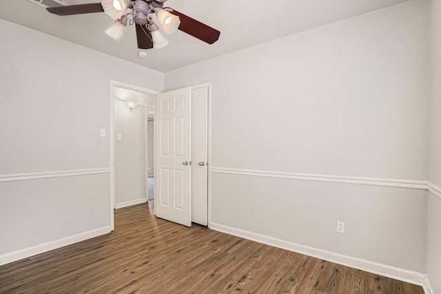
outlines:
[[43, 171], [39, 173], [28, 174], [10, 174], [0, 175], [0, 182], [13, 182], [16, 180], [37, 180], [41, 178], [62, 178], [68, 176], [85, 176], [92, 174], [108, 174], [110, 168], [105, 167], [101, 169], [73, 169], [68, 171]]

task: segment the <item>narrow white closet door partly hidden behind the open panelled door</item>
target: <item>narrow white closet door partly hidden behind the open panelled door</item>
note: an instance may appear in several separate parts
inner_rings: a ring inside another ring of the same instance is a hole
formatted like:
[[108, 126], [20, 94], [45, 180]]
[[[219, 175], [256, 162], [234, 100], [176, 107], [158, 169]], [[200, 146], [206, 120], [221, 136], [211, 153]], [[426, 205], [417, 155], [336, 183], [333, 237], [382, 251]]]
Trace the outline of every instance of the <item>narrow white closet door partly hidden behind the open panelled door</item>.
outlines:
[[192, 221], [208, 224], [208, 87], [192, 90]]

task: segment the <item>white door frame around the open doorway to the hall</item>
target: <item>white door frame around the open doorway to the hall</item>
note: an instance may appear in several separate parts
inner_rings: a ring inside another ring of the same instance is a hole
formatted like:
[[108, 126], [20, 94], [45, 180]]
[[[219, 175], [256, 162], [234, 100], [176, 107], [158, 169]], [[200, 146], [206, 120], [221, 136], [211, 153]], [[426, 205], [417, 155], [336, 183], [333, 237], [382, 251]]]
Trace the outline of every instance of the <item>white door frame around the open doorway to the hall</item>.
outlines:
[[[126, 90], [132, 90], [136, 92], [141, 92], [144, 94], [150, 94], [152, 96], [156, 96], [156, 94], [160, 93], [159, 91], [147, 89], [145, 87], [139, 87], [136, 85], [131, 85], [127, 83], [123, 83], [120, 81], [110, 80], [110, 124], [109, 124], [109, 154], [110, 154], [110, 231], [114, 231], [114, 209], [115, 209], [115, 113], [116, 113], [116, 105], [115, 105], [115, 97], [113, 94], [113, 88], [120, 87]], [[154, 105], [153, 105], [154, 106]], [[146, 158], [147, 165], [147, 158]], [[145, 167], [147, 169], [147, 167]], [[147, 196], [146, 196], [147, 197]]]

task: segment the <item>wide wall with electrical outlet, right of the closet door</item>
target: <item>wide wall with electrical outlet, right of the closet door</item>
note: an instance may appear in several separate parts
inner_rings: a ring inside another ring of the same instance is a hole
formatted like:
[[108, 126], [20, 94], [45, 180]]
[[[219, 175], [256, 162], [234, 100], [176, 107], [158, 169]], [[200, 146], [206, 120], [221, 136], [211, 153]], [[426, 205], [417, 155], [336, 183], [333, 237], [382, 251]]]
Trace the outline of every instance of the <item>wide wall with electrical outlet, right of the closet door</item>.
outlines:
[[427, 49], [416, 0], [167, 72], [212, 81], [211, 227], [420, 279]]

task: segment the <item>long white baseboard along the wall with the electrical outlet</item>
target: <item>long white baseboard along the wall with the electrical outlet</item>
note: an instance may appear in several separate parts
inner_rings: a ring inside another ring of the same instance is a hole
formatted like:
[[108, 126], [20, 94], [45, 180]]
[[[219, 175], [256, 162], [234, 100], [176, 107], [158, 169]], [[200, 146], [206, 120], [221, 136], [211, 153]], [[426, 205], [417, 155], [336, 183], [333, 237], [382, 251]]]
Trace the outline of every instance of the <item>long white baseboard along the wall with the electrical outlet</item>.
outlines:
[[378, 262], [372, 262], [370, 260], [364, 260], [361, 258], [353, 258], [351, 256], [342, 255], [340, 253], [334, 253], [331, 251], [326, 251], [310, 246], [288, 242], [285, 240], [280, 240], [267, 235], [261, 235], [258, 233], [245, 231], [242, 229], [228, 227], [223, 224], [218, 224], [216, 222], [210, 222], [209, 229], [220, 231], [222, 233], [227, 233], [229, 235], [235, 235], [237, 237], [245, 238], [247, 240], [252, 240], [255, 242], [278, 247], [280, 249], [294, 251], [296, 253], [308, 255], [313, 258], [320, 258], [321, 260], [327, 260], [329, 262], [334, 262], [336, 264], [350, 266], [354, 269], [360, 269], [362, 271], [367, 271], [369, 273], [375, 273], [385, 277], [391, 277], [393, 279], [409, 282], [411, 284], [418, 284], [419, 286], [423, 286], [423, 287], [426, 286], [427, 276], [422, 273], [418, 273], [416, 271], [408, 271], [405, 269], [396, 268], [394, 266], [388, 266], [387, 264], [380, 264]]

